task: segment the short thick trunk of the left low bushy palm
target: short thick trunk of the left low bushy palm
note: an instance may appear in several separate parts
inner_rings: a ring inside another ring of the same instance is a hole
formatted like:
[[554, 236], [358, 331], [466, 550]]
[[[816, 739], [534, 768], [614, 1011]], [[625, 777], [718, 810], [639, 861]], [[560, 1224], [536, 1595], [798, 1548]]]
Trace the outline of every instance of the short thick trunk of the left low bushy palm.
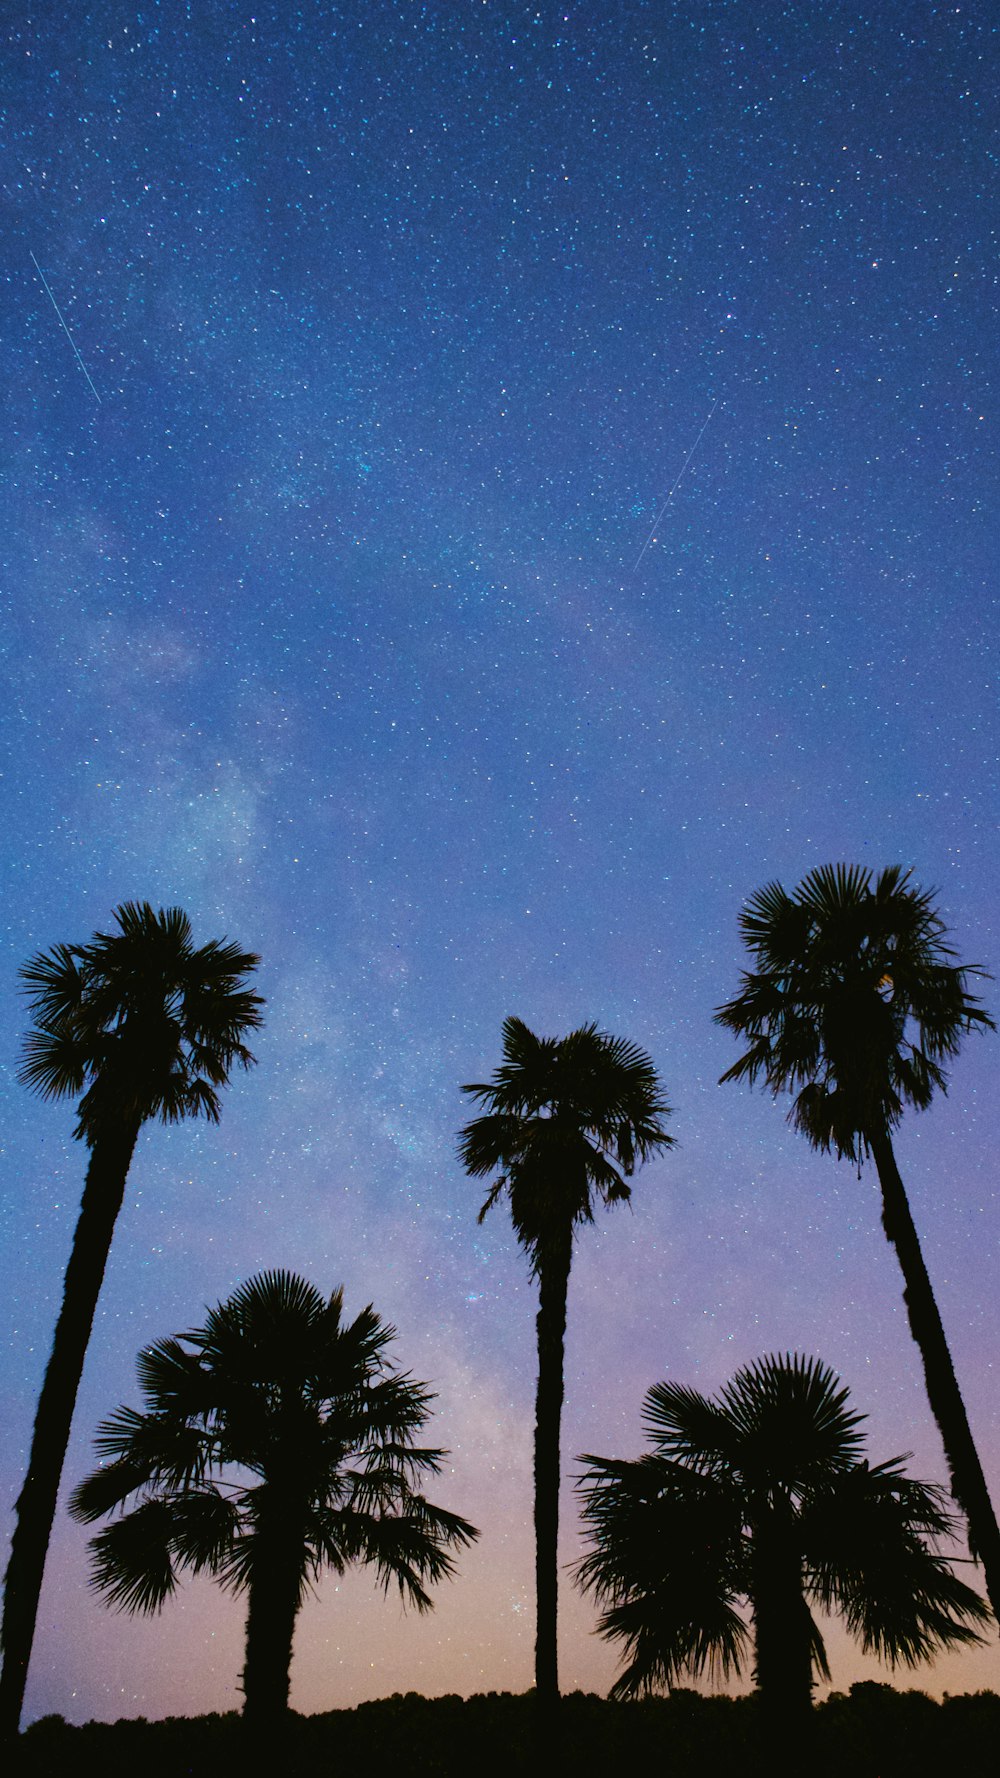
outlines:
[[290, 1533], [290, 1515], [276, 1515], [270, 1531], [260, 1529], [258, 1543], [247, 1607], [244, 1723], [269, 1735], [288, 1714], [302, 1538]]

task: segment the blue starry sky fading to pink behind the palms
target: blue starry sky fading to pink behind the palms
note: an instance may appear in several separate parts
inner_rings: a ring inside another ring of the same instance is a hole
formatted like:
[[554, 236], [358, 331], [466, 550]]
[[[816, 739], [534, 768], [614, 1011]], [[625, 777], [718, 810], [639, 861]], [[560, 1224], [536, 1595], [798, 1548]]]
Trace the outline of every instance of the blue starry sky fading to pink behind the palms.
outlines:
[[[9, 20], [4, 1504], [85, 1166], [18, 967], [180, 903], [267, 1026], [219, 1129], [141, 1138], [64, 1492], [139, 1348], [288, 1266], [395, 1323], [482, 1529], [429, 1618], [324, 1584], [301, 1710], [532, 1678], [534, 1289], [456, 1159], [507, 1013], [641, 1044], [678, 1141], [578, 1241], [562, 1559], [577, 1453], [767, 1351], [945, 1476], [874, 1172], [719, 1086], [712, 1010], [742, 900], [836, 861], [1000, 969], [998, 39], [986, 0]], [[995, 1070], [970, 1038], [899, 1159], [1000, 1501]], [[27, 1719], [238, 1707], [242, 1607], [117, 1618], [85, 1543], [60, 1511]], [[593, 1627], [566, 1581], [564, 1689], [617, 1671]], [[902, 1682], [1000, 1687], [996, 1643]]]

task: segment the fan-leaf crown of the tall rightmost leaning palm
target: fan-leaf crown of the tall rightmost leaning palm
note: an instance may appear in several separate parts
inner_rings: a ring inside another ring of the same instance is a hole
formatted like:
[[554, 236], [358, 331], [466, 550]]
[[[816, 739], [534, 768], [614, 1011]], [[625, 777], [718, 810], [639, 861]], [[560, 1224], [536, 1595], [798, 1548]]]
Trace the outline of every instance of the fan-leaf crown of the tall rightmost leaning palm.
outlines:
[[859, 1159], [904, 1106], [925, 1109], [966, 1031], [993, 1019], [952, 962], [931, 894], [909, 871], [826, 864], [794, 894], [758, 889], [740, 914], [756, 969], [715, 1019], [749, 1049], [724, 1081], [792, 1092], [790, 1120], [817, 1149]]

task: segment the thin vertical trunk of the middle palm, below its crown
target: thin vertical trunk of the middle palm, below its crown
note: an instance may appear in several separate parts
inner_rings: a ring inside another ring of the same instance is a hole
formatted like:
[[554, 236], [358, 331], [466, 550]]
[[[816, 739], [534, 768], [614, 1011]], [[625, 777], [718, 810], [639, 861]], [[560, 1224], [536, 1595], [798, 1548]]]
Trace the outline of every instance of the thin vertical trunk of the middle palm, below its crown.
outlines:
[[546, 1241], [537, 1268], [536, 1693], [541, 1705], [559, 1702], [559, 1428], [571, 1252], [573, 1230], [566, 1229]]

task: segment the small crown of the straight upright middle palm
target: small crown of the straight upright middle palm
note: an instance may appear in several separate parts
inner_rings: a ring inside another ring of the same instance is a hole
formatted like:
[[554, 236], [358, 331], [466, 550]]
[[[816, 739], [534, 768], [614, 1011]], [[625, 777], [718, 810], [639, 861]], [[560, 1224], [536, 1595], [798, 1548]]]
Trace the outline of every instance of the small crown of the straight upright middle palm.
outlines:
[[536, 1273], [546, 1241], [593, 1221], [594, 1197], [628, 1200], [635, 1165], [674, 1140], [649, 1056], [596, 1024], [555, 1038], [505, 1019], [502, 1065], [463, 1092], [488, 1108], [461, 1134], [464, 1168], [473, 1179], [498, 1175], [479, 1220], [505, 1191]]

